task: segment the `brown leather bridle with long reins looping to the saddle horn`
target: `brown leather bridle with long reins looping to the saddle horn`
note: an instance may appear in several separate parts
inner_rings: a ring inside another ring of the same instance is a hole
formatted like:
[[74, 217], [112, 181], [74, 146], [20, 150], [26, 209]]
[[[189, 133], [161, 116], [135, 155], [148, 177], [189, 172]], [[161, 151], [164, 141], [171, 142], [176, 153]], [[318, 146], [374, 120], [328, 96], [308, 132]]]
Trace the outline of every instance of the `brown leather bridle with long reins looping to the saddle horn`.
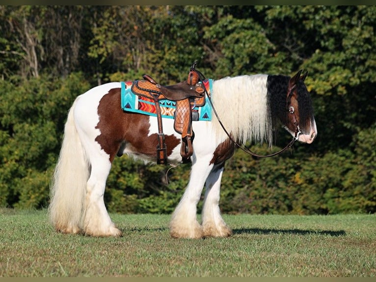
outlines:
[[[199, 76], [199, 83], [205, 79], [204, 75], [195, 69], [195, 65], [197, 64], [197, 61], [195, 61], [192, 65], [192, 67], [190, 68], [191, 71], [195, 71], [197, 72], [198, 76]], [[275, 153], [272, 153], [270, 155], [259, 155], [259, 154], [256, 154], [254, 152], [252, 152], [249, 148], [247, 147], [243, 147], [241, 144], [239, 144], [237, 141], [235, 141], [231, 134], [228, 133], [228, 131], [226, 130], [226, 128], [224, 127], [222, 121], [220, 120], [217, 112], [215, 111], [215, 108], [214, 108], [214, 105], [212, 103], [212, 99], [210, 97], [210, 94], [208, 93], [208, 91], [206, 90], [206, 87], [203, 87], [204, 90], [205, 90], [205, 94], [208, 96], [208, 100], [210, 102], [210, 105], [212, 106], [212, 109], [213, 109], [213, 112], [215, 113], [215, 116], [216, 118], [218, 119], [218, 122], [220, 124], [220, 126], [222, 127], [222, 129], [224, 130], [224, 132], [227, 134], [228, 138], [235, 144], [237, 145], [239, 148], [241, 148], [245, 153], [249, 154], [249, 155], [252, 155], [254, 157], [257, 157], [257, 158], [268, 158], [268, 157], [272, 157], [272, 156], [275, 156], [275, 155], [278, 155], [284, 151], [286, 151], [287, 149], [291, 148], [293, 146], [293, 144], [295, 143], [295, 141], [299, 140], [299, 135], [301, 134], [301, 131], [300, 131], [300, 127], [299, 127], [299, 123], [296, 119], [296, 116], [295, 116], [295, 109], [293, 106], [291, 106], [291, 101], [290, 101], [290, 98], [291, 96], [293, 95], [293, 90], [296, 88], [296, 84], [294, 85], [290, 85], [290, 82], [289, 82], [289, 87], [288, 87], [288, 95], [287, 95], [287, 98], [286, 98], [286, 104], [287, 104], [287, 111], [289, 112], [289, 114], [292, 115], [293, 117], [293, 122], [294, 122], [294, 125], [295, 125], [295, 136], [293, 137], [293, 140], [291, 140], [283, 149], [279, 150], [278, 152], [275, 152]]]

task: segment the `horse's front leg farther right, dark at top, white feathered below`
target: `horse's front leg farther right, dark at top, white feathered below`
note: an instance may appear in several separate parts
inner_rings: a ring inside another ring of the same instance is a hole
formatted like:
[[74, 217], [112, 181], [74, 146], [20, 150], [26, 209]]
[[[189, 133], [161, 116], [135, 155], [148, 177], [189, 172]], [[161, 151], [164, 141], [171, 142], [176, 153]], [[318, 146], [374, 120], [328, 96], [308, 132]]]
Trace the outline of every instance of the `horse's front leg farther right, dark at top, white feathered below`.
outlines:
[[205, 237], [228, 237], [232, 230], [223, 221], [219, 210], [219, 192], [224, 163], [215, 165], [206, 180], [202, 228]]

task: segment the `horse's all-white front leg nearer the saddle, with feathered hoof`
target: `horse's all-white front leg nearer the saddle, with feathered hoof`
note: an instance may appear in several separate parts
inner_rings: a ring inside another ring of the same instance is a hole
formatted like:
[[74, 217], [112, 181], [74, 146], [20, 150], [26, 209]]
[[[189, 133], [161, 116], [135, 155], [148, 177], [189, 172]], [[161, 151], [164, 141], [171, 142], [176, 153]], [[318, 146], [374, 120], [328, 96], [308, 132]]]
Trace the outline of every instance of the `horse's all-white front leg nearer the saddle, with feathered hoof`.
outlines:
[[209, 165], [212, 156], [207, 159], [193, 161], [190, 177], [186, 191], [178, 206], [172, 214], [170, 222], [170, 235], [173, 238], [194, 238], [203, 237], [201, 225], [197, 222], [197, 203], [201, 197], [205, 180], [213, 168]]

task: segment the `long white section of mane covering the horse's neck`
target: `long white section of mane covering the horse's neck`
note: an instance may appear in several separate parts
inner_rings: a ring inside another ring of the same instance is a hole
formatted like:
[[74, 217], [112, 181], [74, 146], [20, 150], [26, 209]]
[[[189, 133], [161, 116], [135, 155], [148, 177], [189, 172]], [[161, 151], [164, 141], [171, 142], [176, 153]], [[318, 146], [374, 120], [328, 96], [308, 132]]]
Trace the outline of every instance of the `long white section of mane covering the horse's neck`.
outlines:
[[[268, 75], [226, 77], [213, 82], [212, 102], [215, 111], [233, 138], [242, 145], [246, 141], [272, 143], [271, 118], [268, 111]], [[218, 137], [225, 135], [215, 113], [213, 127]]]

